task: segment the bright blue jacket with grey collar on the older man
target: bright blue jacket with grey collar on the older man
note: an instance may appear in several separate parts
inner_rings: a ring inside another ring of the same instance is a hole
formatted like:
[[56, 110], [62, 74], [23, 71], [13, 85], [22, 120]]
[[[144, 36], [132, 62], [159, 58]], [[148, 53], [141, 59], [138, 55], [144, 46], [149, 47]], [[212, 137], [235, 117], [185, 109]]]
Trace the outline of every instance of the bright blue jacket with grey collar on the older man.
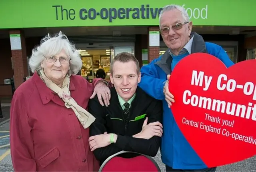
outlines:
[[[234, 63], [225, 50], [216, 44], [204, 42], [202, 36], [193, 33], [191, 53], [205, 52], [219, 58], [227, 67]], [[166, 51], [162, 56], [141, 68], [139, 87], [150, 96], [163, 101], [162, 162], [174, 169], [194, 170], [207, 168], [179, 130], [163, 93], [167, 74], [171, 73], [172, 56]], [[172, 69], [173, 70], [173, 69]], [[182, 77], [182, 76], [181, 76]]]

